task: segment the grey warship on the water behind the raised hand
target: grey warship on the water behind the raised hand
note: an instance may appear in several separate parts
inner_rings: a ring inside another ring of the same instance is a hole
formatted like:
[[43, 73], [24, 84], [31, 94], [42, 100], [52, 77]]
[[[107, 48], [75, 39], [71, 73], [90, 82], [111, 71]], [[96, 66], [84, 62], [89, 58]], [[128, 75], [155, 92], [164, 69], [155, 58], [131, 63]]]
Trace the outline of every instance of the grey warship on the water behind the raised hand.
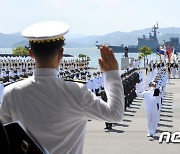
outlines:
[[[143, 35], [143, 37], [139, 37], [138, 38], [138, 43], [137, 45], [128, 45], [128, 52], [129, 53], [138, 53], [139, 48], [141, 48], [142, 46], [147, 46], [149, 48], [151, 48], [151, 50], [153, 52], [156, 52], [157, 47], [159, 47], [160, 45], [158, 44], [158, 40], [157, 40], [157, 29], [158, 29], [158, 24], [157, 26], [153, 26], [152, 27], [152, 33], [149, 33], [149, 38], [146, 38], [145, 35]], [[100, 48], [102, 44], [96, 44], [96, 46], [98, 47], [98, 49]], [[115, 53], [124, 53], [124, 45], [121, 46], [113, 46], [113, 45], [109, 45], [110, 48], [112, 48], [112, 50]]]

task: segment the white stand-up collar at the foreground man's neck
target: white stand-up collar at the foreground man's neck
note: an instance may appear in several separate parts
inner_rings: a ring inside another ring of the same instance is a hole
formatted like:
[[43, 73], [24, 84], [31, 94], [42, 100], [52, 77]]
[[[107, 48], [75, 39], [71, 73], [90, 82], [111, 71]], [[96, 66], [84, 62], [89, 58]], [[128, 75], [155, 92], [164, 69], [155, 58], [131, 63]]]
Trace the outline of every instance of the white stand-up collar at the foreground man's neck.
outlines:
[[58, 76], [58, 71], [53, 68], [37, 68], [33, 72], [34, 76]]

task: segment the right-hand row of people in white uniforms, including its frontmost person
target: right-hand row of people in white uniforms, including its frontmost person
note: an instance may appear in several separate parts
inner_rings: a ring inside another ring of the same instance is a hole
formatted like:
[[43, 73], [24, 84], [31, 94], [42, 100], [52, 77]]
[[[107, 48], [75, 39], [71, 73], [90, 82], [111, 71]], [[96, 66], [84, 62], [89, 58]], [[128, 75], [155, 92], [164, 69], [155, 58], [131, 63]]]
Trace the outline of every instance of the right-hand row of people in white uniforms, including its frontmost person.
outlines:
[[142, 92], [137, 88], [136, 94], [138, 97], [143, 97], [147, 114], [148, 134], [149, 137], [154, 137], [160, 120], [160, 109], [165, 92], [167, 73], [165, 69], [161, 69], [153, 82], [149, 83], [149, 88]]

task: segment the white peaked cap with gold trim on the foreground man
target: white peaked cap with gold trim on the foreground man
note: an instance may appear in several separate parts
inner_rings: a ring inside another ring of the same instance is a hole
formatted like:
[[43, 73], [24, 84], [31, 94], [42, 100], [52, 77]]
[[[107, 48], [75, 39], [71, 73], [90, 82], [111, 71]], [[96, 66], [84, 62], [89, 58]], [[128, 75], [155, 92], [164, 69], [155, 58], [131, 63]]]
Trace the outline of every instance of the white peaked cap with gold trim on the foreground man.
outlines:
[[22, 36], [32, 42], [48, 40], [64, 40], [64, 35], [68, 33], [69, 25], [60, 21], [46, 21], [33, 24], [21, 33]]

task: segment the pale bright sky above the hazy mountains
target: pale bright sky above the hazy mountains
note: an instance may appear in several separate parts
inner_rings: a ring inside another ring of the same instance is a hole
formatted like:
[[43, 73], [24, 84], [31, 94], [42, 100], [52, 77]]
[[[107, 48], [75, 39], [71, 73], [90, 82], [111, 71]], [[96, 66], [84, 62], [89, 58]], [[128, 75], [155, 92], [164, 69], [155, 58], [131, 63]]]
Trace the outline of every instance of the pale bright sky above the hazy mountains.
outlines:
[[0, 0], [0, 33], [21, 32], [41, 21], [64, 21], [69, 34], [104, 35], [180, 27], [179, 0]]

